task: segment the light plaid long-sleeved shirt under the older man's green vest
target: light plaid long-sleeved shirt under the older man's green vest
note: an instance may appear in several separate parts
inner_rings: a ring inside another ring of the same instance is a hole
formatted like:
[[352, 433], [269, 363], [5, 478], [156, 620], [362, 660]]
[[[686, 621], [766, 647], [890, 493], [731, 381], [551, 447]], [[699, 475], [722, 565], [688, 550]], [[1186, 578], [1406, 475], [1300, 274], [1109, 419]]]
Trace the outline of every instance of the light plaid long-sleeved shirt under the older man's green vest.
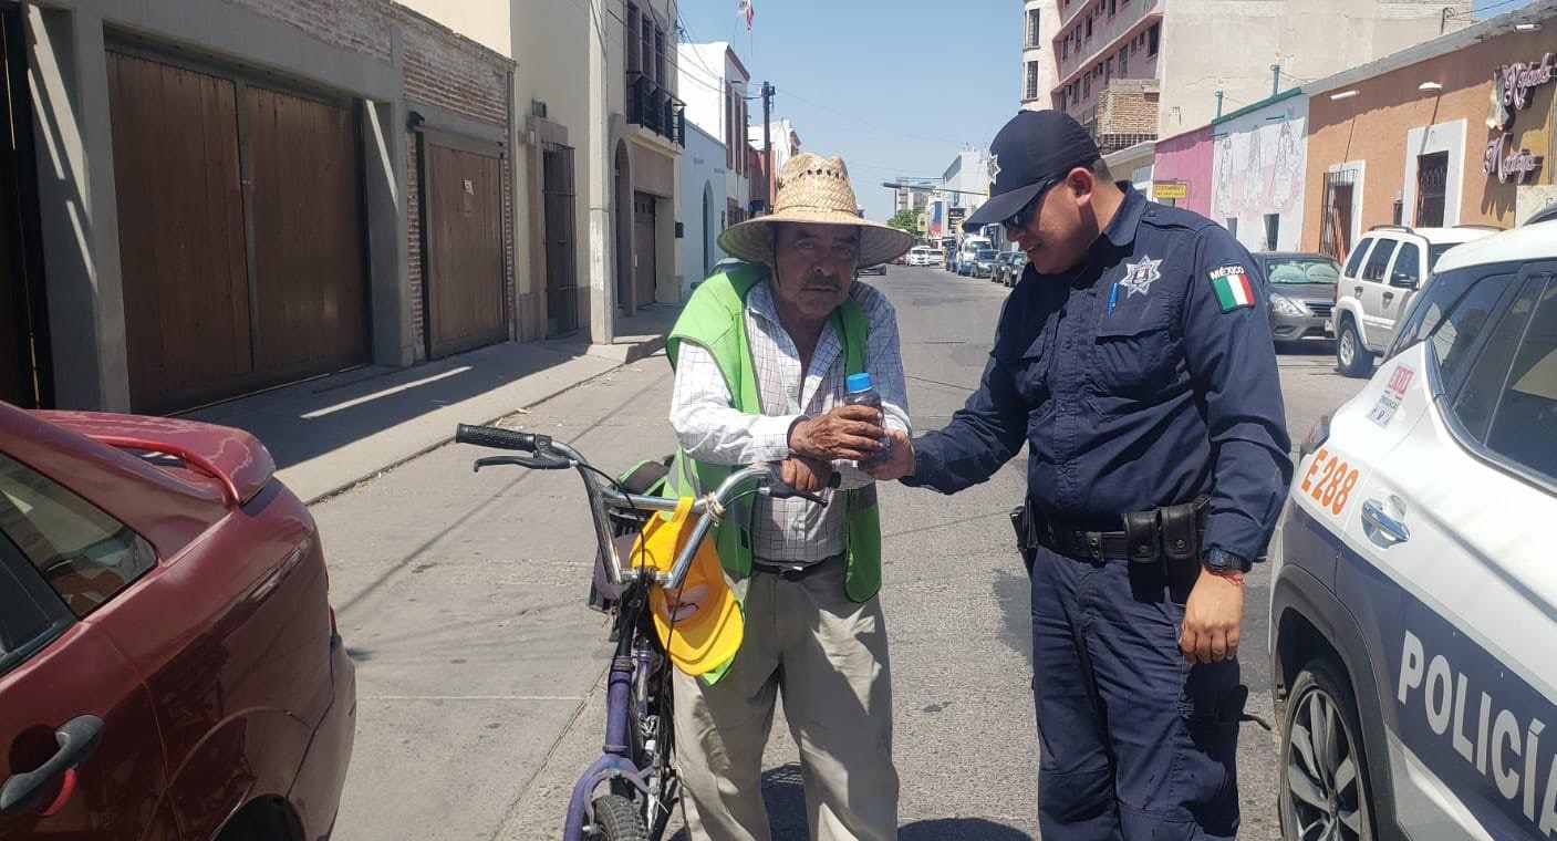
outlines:
[[[870, 325], [866, 371], [881, 396], [889, 430], [911, 433], [903, 355], [897, 336], [897, 313], [880, 291], [855, 283], [849, 296], [864, 310]], [[800, 352], [778, 322], [768, 282], [746, 297], [746, 336], [757, 369], [761, 414], [733, 408], [724, 374], [708, 350], [685, 343], [676, 364], [671, 396], [671, 427], [682, 449], [712, 464], [754, 464], [789, 458], [789, 427], [816, 417], [844, 402], [844, 343], [828, 321], [811, 355], [810, 371], [800, 371]], [[864, 487], [873, 481], [852, 461], [835, 461], [841, 487]], [[833, 491], [822, 491], [825, 508], [807, 500], [754, 501], [752, 528], [758, 561], [814, 564], [844, 551], [844, 508], [831, 505]]]

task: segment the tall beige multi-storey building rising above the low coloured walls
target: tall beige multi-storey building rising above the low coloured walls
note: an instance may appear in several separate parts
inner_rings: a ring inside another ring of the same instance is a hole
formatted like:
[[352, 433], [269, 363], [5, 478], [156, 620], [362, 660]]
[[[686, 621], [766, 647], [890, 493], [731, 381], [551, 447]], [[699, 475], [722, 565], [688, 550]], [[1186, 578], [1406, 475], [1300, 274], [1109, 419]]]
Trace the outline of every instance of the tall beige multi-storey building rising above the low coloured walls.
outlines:
[[[1465, 26], [1471, 9], [1470, 0], [1046, 0], [1025, 3], [1029, 20], [1034, 5], [1054, 72], [1025, 104], [1068, 111], [1105, 153], [1202, 126], [1286, 87], [1281, 78], [1317, 78]], [[1042, 51], [1023, 50], [1025, 72], [1029, 55]], [[1045, 70], [1037, 61], [1035, 75]]]

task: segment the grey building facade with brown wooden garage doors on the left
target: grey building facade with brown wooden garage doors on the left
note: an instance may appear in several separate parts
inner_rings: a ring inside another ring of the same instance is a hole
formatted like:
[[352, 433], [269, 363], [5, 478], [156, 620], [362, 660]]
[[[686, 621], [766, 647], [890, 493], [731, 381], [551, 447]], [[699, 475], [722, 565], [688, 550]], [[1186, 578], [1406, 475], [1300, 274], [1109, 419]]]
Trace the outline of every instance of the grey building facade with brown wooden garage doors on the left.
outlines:
[[173, 411], [520, 335], [508, 56], [388, 0], [0, 14], [36, 86], [6, 400]]

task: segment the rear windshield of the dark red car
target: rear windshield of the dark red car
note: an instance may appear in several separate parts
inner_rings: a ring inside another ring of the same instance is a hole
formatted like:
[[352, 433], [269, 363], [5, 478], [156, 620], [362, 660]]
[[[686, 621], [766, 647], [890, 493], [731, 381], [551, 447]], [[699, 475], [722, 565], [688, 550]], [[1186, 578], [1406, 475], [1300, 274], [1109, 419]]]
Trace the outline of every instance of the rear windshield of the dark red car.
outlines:
[[0, 531], [84, 617], [157, 562], [142, 536], [48, 477], [0, 455]]

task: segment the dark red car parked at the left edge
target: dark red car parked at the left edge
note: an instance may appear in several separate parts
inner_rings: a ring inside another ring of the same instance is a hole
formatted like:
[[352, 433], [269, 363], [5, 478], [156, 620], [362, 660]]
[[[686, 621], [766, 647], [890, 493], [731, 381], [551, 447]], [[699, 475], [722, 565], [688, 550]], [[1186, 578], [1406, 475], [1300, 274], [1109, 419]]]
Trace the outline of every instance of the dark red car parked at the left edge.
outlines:
[[0, 403], [0, 838], [316, 841], [357, 677], [244, 431]]

